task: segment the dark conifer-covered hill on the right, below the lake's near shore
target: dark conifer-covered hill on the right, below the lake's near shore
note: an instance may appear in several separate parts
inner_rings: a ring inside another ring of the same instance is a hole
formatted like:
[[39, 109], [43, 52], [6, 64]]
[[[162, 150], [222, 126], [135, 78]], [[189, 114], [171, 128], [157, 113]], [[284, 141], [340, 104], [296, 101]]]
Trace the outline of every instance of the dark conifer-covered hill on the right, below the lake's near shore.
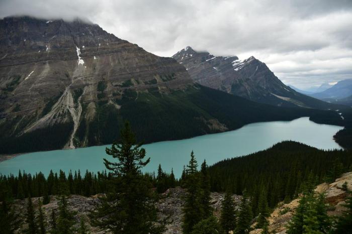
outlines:
[[[218, 162], [209, 168], [213, 191], [230, 189], [241, 194], [246, 189], [258, 200], [268, 191], [269, 206], [289, 201], [304, 190], [306, 182], [331, 182], [351, 170], [350, 151], [322, 151], [297, 142], [282, 142], [268, 150]], [[253, 206], [256, 213], [256, 206]]]

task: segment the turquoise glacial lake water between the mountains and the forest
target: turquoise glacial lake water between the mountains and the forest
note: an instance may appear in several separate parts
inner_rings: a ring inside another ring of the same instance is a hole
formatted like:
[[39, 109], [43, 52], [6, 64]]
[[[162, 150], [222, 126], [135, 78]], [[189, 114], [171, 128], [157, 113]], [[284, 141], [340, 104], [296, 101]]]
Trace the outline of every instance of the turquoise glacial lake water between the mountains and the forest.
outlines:
[[[192, 150], [199, 164], [206, 159], [208, 165], [211, 165], [226, 158], [265, 150], [284, 140], [293, 140], [324, 150], [341, 149], [333, 140], [333, 135], [340, 129], [342, 127], [315, 124], [304, 117], [293, 121], [254, 123], [230, 132], [185, 140], [151, 143], [143, 146], [147, 157], [151, 158], [144, 171], [156, 171], [160, 163], [163, 170], [170, 172], [172, 167], [175, 176], [180, 177]], [[60, 169], [65, 172], [80, 169], [83, 173], [86, 169], [102, 171], [105, 170], [103, 158], [112, 159], [105, 153], [105, 148], [109, 146], [23, 154], [1, 162], [0, 173], [18, 174], [19, 170], [25, 170], [31, 174], [41, 171], [47, 175], [50, 169], [54, 172]]]

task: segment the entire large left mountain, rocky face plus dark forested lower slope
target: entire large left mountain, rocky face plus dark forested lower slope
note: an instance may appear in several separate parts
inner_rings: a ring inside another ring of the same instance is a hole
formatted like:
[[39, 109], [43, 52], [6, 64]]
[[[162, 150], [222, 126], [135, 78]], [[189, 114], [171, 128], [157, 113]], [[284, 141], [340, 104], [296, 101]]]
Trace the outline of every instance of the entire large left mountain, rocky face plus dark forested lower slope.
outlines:
[[[271, 92], [284, 95], [277, 83]], [[145, 142], [300, 116], [340, 121], [332, 111], [279, 109], [201, 86], [173, 58], [98, 25], [31, 17], [0, 20], [0, 101], [0, 154], [111, 144], [126, 120]]]

